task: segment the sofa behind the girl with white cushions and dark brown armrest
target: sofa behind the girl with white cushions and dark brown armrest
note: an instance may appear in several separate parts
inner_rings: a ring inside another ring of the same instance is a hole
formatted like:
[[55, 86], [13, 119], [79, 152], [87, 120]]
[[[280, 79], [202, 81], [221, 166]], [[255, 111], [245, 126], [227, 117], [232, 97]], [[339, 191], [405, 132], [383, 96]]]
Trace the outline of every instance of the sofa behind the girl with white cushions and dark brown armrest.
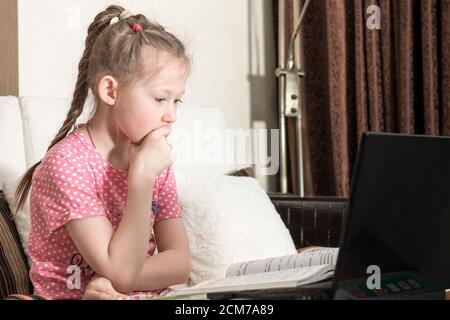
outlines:
[[[69, 105], [68, 98], [0, 97], [0, 299], [33, 294], [29, 211], [12, 212], [11, 195], [18, 178], [45, 155]], [[88, 102], [78, 123], [90, 111]], [[174, 170], [193, 258], [190, 284], [219, 277], [230, 263], [338, 246], [346, 199], [267, 194], [251, 177], [251, 163], [217, 157], [234, 148], [221, 139], [227, 130], [221, 110], [183, 106], [178, 119], [171, 143], [179, 155]], [[197, 154], [180, 156], [193, 143]]]

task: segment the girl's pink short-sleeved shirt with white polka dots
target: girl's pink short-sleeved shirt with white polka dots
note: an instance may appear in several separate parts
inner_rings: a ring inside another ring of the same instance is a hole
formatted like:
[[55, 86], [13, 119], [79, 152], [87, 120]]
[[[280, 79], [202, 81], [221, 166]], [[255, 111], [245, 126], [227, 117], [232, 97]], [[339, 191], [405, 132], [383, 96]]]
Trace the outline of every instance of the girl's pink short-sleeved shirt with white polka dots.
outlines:
[[[35, 294], [81, 299], [95, 272], [77, 251], [64, 225], [72, 219], [105, 216], [114, 230], [127, 200], [128, 172], [114, 168], [77, 126], [47, 152], [36, 168], [30, 193], [28, 250]], [[153, 189], [148, 254], [157, 253], [155, 222], [181, 217], [173, 169], [160, 173]], [[169, 289], [136, 292], [130, 298], [165, 295]]]

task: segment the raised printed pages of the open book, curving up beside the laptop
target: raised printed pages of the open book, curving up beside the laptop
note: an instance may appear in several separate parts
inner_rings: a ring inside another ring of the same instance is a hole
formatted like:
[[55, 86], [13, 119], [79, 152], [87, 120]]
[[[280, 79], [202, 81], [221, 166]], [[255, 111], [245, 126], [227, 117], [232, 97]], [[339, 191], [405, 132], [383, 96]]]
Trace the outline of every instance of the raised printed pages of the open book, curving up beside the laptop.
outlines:
[[317, 247], [294, 255], [244, 261], [228, 267], [225, 277], [243, 276], [254, 273], [274, 272], [316, 265], [336, 265], [338, 248]]

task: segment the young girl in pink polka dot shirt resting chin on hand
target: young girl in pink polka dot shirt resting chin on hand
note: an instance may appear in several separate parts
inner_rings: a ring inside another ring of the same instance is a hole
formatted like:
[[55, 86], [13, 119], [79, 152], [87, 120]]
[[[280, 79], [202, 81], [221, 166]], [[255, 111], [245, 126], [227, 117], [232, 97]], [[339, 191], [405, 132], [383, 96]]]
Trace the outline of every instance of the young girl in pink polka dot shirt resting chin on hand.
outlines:
[[[145, 16], [110, 6], [95, 17], [67, 119], [16, 193], [20, 209], [31, 188], [35, 294], [124, 299], [187, 281], [166, 137], [189, 67], [183, 44]], [[93, 116], [75, 126], [89, 89]]]

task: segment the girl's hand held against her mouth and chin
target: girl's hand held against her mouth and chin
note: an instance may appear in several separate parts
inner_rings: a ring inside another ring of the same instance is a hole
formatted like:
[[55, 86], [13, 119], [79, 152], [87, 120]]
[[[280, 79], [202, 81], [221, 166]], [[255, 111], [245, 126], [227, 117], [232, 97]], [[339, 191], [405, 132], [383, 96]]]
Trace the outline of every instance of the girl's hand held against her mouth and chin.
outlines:
[[147, 134], [139, 144], [130, 145], [130, 172], [140, 178], [154, 179], [175, 161], [167, 136], [172, 132], [164, 126]]

